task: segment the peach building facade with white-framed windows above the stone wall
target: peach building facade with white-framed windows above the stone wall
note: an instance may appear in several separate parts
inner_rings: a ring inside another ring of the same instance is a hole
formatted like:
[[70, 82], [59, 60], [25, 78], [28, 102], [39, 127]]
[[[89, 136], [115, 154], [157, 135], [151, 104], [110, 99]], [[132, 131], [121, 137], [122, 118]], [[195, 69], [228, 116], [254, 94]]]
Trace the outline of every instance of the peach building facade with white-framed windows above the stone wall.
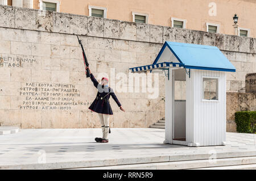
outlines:
[[228, 35], [234, 35], [237, 14], [238, 35], [256, 37], [254, 0], [0, 0], [0, 4]]

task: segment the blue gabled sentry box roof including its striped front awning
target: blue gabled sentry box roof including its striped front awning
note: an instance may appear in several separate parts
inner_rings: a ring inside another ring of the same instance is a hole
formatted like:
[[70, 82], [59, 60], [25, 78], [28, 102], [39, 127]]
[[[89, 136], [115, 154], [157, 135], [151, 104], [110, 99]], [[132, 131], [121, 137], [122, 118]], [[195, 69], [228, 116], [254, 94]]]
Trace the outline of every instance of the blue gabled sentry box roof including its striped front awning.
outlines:
[[[236, 68], [217, 48], [209, 45], [196, 45], [166, 41], [151, 65], [130, 68], [132, 72], [158, 69], [162, 64], [178, 65], [187, 69], [236, 71]], [[159, 65], [158, 65], [159, 64]]]

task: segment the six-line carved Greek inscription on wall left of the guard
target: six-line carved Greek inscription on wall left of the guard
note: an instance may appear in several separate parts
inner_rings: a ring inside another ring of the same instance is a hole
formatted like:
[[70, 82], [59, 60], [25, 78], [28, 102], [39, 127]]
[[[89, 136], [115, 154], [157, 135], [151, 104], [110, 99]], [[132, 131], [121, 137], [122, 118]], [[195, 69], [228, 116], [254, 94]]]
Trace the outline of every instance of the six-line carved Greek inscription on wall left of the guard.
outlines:
[[23, 83], [19, 95], [24, 97], [20, 110], [72, 110], [91, 103], [75, 99], [80, 97], [80, 93], [72, 84]]

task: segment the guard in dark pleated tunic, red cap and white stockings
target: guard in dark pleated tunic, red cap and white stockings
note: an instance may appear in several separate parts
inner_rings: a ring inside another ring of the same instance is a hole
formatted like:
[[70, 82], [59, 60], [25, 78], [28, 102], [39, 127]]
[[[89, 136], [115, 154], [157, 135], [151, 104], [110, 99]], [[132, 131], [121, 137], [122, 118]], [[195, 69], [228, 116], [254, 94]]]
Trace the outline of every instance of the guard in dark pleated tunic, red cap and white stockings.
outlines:
[[[86, 66], [86, 69], [90, 68]], [[93, 85], [98, 89], [97, 96], [94, 99], [93, 103], [90, 105], [89, 110], [98, 113], [98, 117], [100, 118], [101, 122], [101, 129], [102, 129], [102, 138], [95, 138], [96, 142], [109, 142], [108, 134], [110, 133], [109, 128], [109, 115], [113, 115], [112, 108], [109, 104], [110, 95], [117, 103], [120, 110], [123, 110], [121, 103], [118, 101], [117, 96], [115, 96], [114, 91], [112, 88], [108, 86], [108, 78], [102, 77], [101, 83], [98, 83], [96, 78], [94, 78], [93, 74], [90, 72], [90, 79], [93, 82]]]

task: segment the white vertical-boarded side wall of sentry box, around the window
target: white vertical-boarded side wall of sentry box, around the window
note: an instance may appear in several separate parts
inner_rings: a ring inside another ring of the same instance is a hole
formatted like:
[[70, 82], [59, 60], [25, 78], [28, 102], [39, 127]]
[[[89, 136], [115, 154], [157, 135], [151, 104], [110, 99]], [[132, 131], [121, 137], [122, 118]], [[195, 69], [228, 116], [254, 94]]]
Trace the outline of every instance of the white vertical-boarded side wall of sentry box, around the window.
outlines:
[[[218, 101], [203, 100], [203, 77], [218, 78]], [[226, 141], [226, 75], [191, 69], [187, 79], [186, 141], [188, 146], [224, 145]]]

